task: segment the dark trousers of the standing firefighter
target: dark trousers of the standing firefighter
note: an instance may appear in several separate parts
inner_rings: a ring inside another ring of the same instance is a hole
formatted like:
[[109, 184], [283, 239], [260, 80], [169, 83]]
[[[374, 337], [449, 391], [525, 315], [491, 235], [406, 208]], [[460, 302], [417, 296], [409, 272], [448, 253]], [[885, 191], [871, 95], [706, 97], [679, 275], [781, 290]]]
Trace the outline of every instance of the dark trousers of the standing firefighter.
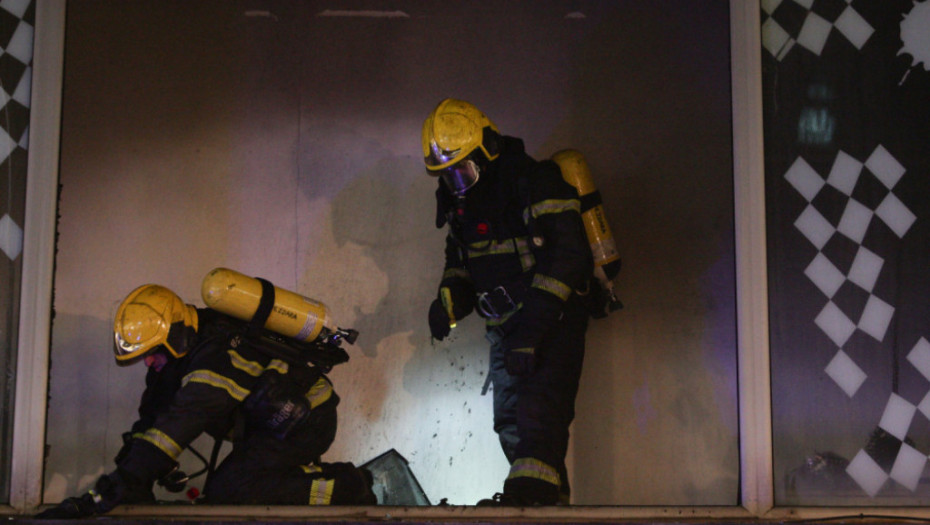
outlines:
[[550, 327], [536, 349], [536, 370], [530, 375], [508, 374], [500, 338], [494, 332], [488, 337], [494, 431], [504, 455], [511, 464], [532, 459], [556, 469], [563, 495], [568, 493], [568, 427], [575, 418], [588, 326], [588, 314], [575, 299], [566, 304], [562, 319]]

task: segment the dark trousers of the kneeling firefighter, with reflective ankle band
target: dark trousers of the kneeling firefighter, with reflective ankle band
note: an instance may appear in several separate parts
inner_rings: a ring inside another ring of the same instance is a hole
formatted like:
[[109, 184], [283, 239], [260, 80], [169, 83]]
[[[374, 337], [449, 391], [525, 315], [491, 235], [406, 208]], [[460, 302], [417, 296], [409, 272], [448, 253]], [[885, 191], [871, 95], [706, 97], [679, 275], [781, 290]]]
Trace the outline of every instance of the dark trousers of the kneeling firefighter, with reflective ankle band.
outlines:
[[211, 504], [373, 505], [370, 474], [351, 463], [320, 463], [336, 436], [336, 407], [314, 409], [285, 439], [258, 431], [232, 452], [204, 487]]

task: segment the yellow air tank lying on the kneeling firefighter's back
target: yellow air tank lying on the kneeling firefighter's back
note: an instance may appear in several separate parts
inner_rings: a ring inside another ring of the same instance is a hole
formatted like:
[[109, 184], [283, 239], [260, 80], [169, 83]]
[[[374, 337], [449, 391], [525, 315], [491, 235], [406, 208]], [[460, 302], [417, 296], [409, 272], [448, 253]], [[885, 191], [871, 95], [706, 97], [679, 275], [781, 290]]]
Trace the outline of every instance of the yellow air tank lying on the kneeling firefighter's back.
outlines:
[[[273, 288], [272, 294], [268, 288]], [[357, 331], [336, 326], [325, 304], [228, 268], [208, 273], [200, 294], [210, 308], [243, 321], [252, 321], [257, 313], [261, 316], [259, 310], [264, 307], [267, 319], [263, 327], [298, 341], [338, 345], [342, 339], [355, 343], [358, 337]], [[267, 304], [269, 295], [273, 304]]]

